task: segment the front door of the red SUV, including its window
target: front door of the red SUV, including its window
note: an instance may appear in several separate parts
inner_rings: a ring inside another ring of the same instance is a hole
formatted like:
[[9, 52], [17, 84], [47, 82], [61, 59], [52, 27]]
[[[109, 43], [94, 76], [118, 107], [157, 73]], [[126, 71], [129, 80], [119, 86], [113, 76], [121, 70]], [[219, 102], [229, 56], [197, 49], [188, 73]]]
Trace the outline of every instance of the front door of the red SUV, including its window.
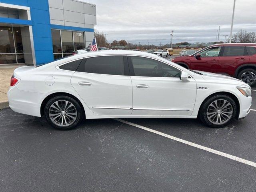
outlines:
[[221, 47], [211, 47], [200, 52], [200, 57], [192, 57], [190, 69], [216, 73]]

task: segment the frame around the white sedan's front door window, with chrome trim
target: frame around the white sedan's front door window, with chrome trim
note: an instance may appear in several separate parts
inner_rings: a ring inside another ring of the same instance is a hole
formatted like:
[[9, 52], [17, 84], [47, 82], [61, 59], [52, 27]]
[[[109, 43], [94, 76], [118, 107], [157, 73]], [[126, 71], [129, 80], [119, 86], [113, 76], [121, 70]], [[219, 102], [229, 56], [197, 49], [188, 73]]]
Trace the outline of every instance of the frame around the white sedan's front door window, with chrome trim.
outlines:
[[[152, 76], [136, 76], [135, 75], [135, 72], [134, 72], [134, 68], [133, 68], [133, 65], [132, 65], [132, 59], [131, 57], [134, 56], [134, 57], [143, 57], [143, 58], [148, 58], [148, 59], [152, 59], [152, 60], [156, 60], [158, 62], [162, 62], [163, 64], [166, 64], [166, 65], [170, 65], [171, 67], [173, 68], [176, 68], [177, 70], [180, 71], [180, 73], [182, 72], [181, 69], [171, 65], [171, 64], [168, 64], [166, 62], [163, 62], [161, 60], [158, 60], [158, 59], [155, 59], [155, 58], [151, 58], [151, 57], [147, 57], [147, 56], [139, 56], [139, 55], [127, 55], [127, 59], [128, 59], [128, 66], [129, 66], [129, 70], [130, 70], [130, 76], [134, 76], [134, 77], [140, 77], [140, 78], [172, 78], [172, 79], [180, 79], [180, 77], [152, 77]], [[189, 78], [192, 78], [190, 75], [189, 75]]]

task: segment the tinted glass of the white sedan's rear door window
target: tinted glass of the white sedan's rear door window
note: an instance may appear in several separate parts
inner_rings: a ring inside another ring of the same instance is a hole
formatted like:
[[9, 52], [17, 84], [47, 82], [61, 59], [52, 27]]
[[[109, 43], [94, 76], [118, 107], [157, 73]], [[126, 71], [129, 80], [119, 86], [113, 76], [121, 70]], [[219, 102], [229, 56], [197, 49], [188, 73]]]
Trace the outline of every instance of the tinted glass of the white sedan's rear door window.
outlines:
[[123, 56], [92, 57], [81, 64], [77, 71], [97, 74], [124, 75]]

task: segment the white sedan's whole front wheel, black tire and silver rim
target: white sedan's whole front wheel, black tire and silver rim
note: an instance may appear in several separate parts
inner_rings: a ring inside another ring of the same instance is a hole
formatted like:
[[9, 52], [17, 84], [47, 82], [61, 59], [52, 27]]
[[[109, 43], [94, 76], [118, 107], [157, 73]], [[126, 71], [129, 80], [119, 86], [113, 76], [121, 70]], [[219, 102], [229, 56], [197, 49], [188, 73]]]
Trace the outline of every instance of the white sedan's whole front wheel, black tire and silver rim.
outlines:
[[204, 102], [199, 117], [207, 126], [221, 128], [231, 122], [236, 112], [236, 103], [230, 96], [215, 95]]

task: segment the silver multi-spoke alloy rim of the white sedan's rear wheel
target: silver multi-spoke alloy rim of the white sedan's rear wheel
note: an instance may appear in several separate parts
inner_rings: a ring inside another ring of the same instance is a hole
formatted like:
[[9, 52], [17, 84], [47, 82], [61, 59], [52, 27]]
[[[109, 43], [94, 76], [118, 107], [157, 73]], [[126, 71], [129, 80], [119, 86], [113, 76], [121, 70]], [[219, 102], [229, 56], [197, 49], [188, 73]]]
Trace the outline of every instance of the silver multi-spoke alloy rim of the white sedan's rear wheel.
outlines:
[[58, 100], [49, 108], [50, 120], [61, 127], [72, 125], [77, 118], [76, 107], [69, 101]]

